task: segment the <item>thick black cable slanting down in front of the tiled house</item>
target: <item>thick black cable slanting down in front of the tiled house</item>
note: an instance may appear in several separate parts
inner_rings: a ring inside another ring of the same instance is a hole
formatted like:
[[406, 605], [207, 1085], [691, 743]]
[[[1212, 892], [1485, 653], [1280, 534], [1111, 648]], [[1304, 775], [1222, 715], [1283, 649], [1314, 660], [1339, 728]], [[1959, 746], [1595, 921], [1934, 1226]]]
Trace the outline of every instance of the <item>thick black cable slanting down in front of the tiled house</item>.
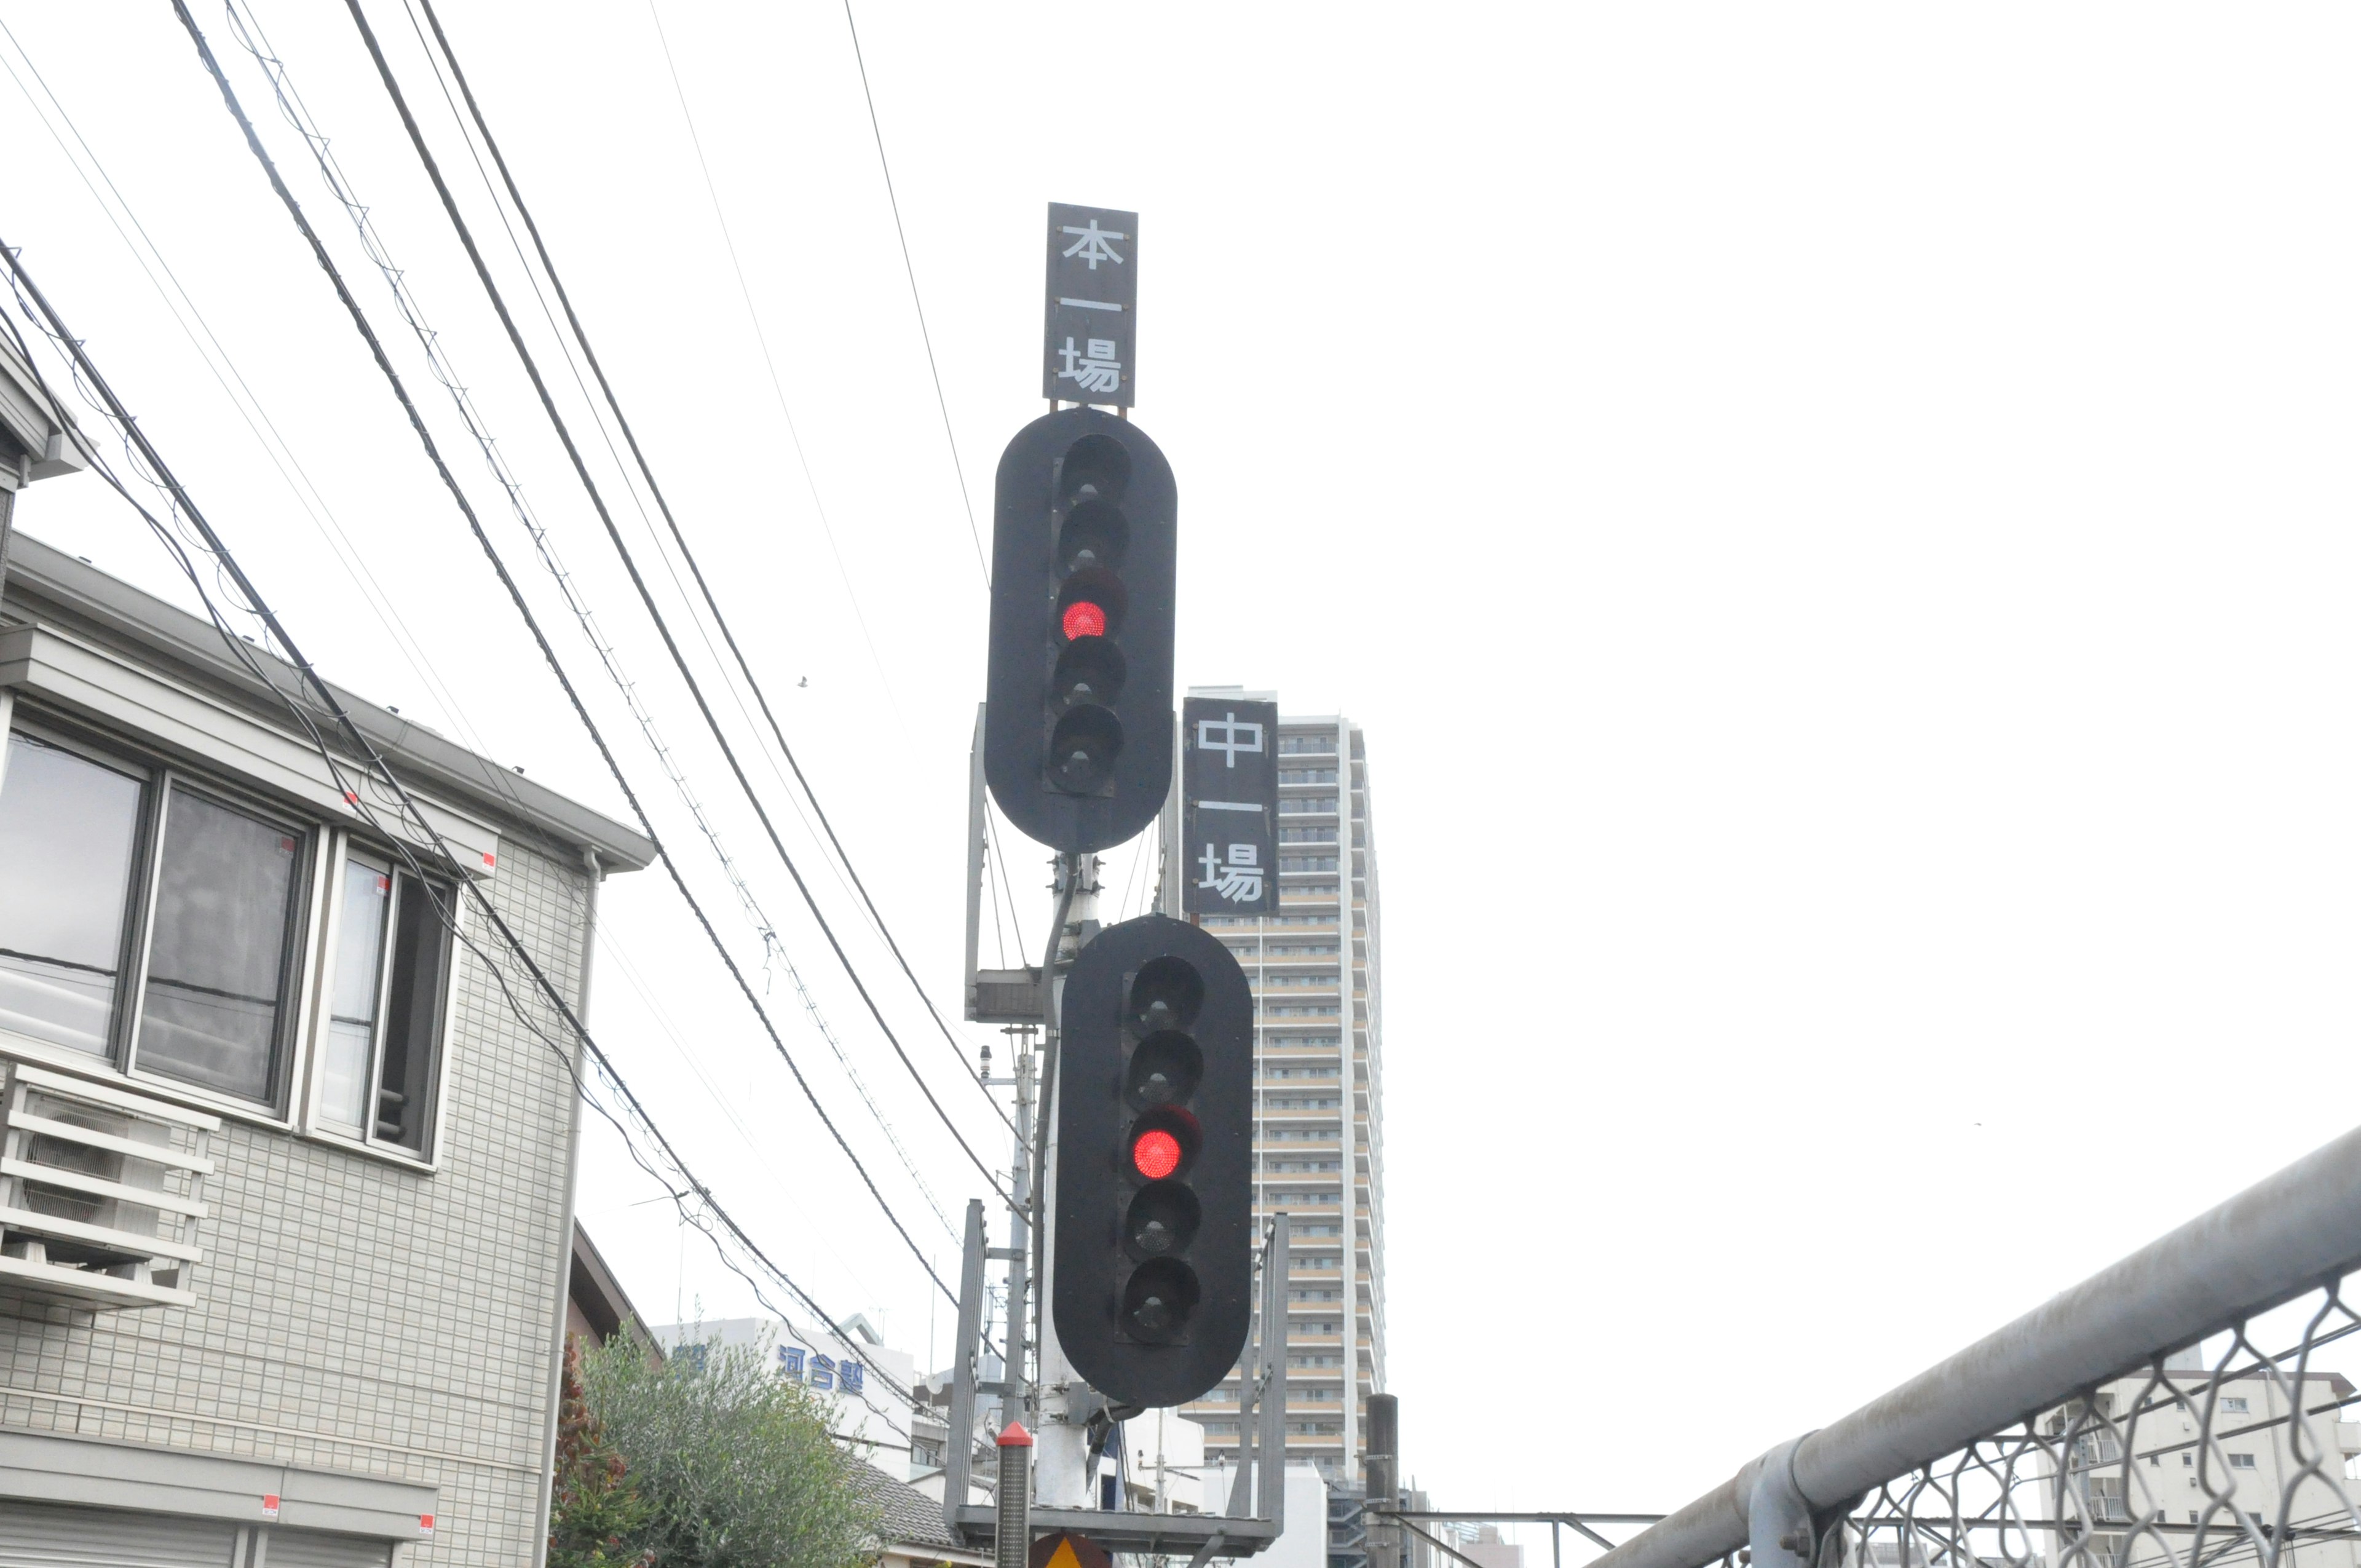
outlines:
[[[175, 7], [179, 7], [179, 0], [175, 0]], [[220, 605], [215, 602], [212, 593], [205, 588], [205, 581], [196, 571], [196, 564], [189, 560], [187, 545], [179, 538], [175, 538], [172, 529], [168, 529], [153, 512], [149, 512], [146, 505], [142, 505], [137, 496], [132, 496], [132, 491], [113, 472], [113, 465], [106, 463], [104, 453], [99, 453], [97, 449], [90, 449], [90, 456], [94, 458], [102, 477], [109, 482], [109, 486], [113, 486], [113, 491], [118, 496], [123, 496], [125, 503], [130, 503], [130, 508], [135, 512], [139, 512], [139, 517], [146, 522], [149, 531], [156, 534], [156, 538], [165, 545], [165, 550], [179, 564], [182, 574], [187, 574], [189, 586], [196, 590], [198, 600], [205, 605], [205, 614], [212, 621], [215, 631], [222, 635], [222, 645], [231, 652], [231, 656], [236, 656], [243, 664], [243, 668], [262, 687], [267, 687], [281, 701], [281, 706], [286, 706], [288, 716], [305, 732], [305, 737], [309, 739], [312, 749], [321, 756], [321, 763], [328, 767], [331, 779], [335, 779], [338, 789], [342, 791], [345, 803], [368, 827], [373, 827], [387, 843], [392, 843], [394, 852], [401, 857], [404, 867], [408, 871], [413, 871], [432, 890], [437, 886], [437, 881], [432, 878], [430, 869], [411, 850], [408, 836], [416, 834], [425, 843], [434, 845], [434, 850], [446, 862], [458, 864], [458, 855], [451, 850], [449, 841], [434, 829], [434, 824], [427, 819], [425, 810], [418, 805], [416, 796], [411, 796], [408, 786], [401, 784], [401, 777], [394, 775], [394, 770], [385, 760], [385, 756], [375, 749], [375, 744], [352, 720], [352, 713], [342, 706], [342, 701], [338, 699], [335, 690], [319, 675], [319, 671], [312, 666], [312, 661], [295, 645], [293, 635], [288, 635], [286, 623], [269, 607], [269, 602], [262, 597], [260, 588], [255, 588], [253, 579], [246, 576], [246, 569], [229, 553], [229, 545], [220, 538], [220, 534], [212, 529], [212, 524], [205, 520], [205, 515], [196, 508], [196, 501], [187, 494], [187, 489], [172, 475], [170, 465], [163, 460], [163, 453], [156, 451], [153, 442], [146, 437], [146, 432], [139, 427], [139, 423], [132, 418], [132, 413], [116, 397], [113, 387], [99, 373], [99, 368], [90, 359], [90, 352], [83, 345], [83, 340], [76, 338], [66, 328], [64, 319], [57, 314], [57, 307], [50, 305], [47, 295], [42, 295], [40, 286], [33, 281], [31, 272], [24, 267], [24, 257], [17, 250], [12, 250], [5, 241], [0, 241], [0, 260], [5, 260], [5, 264], [9, 269], [12, 286], [17, 286], [19, 293], [31, 293], [31, 305], [28, 305], [26, 314], [31, 316], [33, 307], [40, 309], [40, 316], [35, 319], [35, 324], [42, 326], [42, 333], [59, 347], [61, 354], [66, 354], [68, 364], [73, 366], [76, 383], [85, 385], [85, 397], [92, 401], [92, 406], [97, 406], [102, 413], [106, 413], [106, 418], [116, 425], [116, 432], [123, 439], [125, 451], [135, 458], [135, 463], [142, 470], [146, 470], [144, 477], [149, 479], [149, 484], [153, 484], [158, 491], [163, 491], [163, 494], [170, 496], [175, 522], [179, 522], [182, 517], [189, 520], [189, 524], [196, 531], [198, 548], [215, 562], [215, 571], [222, 574], [229, 586], [234, 586], [236, 597], [243, 600], [241, 609], [246, 614], [253, 614], [264, 626], [264, 631], [272, 638], [272, 642], [281, 649], [279, 656], [295, 673], [297, 692], [286, 690], [279, 680], [274, 680], [269, 675], [269, 671], [262, 668], [255, 649], [248, 647], [248, 642], [238, 633], [234, 633], [229, 628], [229, 623], [222, 619]], [[31, 354], [26, 359], [31, 364]], [[38, 378], [38, 371], [35, 371], [35, 378]], [[68, 416], [64, 413], [64, 404], [54, 397], [54, 392], [47, 390], [47, 385], [42, 385], [42, 392], [50, 397], [50, 404], [57, 409], [59, 420], [66, 423]], [[302, 690], [305, 687], [314, 694], [314, 699], [319, 704], [319, 713], [316, 716], [314, 716], [312, 708], [305, 706], [305, 699], [302, 699]], [[361, 758], [361, 777], [357, 777], [357, 779], [347, 777], [349, 763], [338, 760], [335, 749], [328, 746], [326, 734], [321, 734], [321, 730], [319, 730], [319, 718], [328, 718], [328, 723], [338, 732], [342, 732], [342, 737], [359, 753], [359, 758]], [[366, 784], [371, 789], [371, 793], [380, 793], [380, 796], [385, 796], [390, 791], [387, 808], [394, 810], [408, 824], [411, 834], [385, 829], [382, 822], [378, 819], [378, 812], [368, 805], [368, 801], [364, 801], [361, 791], [354, 789], [354, 784]], [[482, 912], [482, 916], [498, 933], [503, 947], [517, 959], [517, 963], [524, 966], [527, 975], [531, 978], [531, 989], [543, 997], [543, 1001], [562, 1020], [562, 1025], [567, 1027], [567, 1032], [581, 1044], [583, 1056], [588, 1056], [597, 1065], [600, 1077], [621, 1096], [621, 1100], [630, 1110], [633, 1122], [649, 1138], [654, 1138], [654, 1143], [663, 1152], [666, 1162], [671, 1162], [671, 1167], [678, 1171], [680, 1181], [685, 1181], [689, 1185], [689, 1190], [696, 1195], [699, 1209], [704, 1214], [711, 1214], [713, 1219], [718, 1219], [722, 1223], [722, 1228], [737, 1240], [737, 1244], [744, 1247], [746, 1254], [751, 1259], [756, 1259], [763, 1266], [765, 1273], [770, 1273], [770, 1278], [774, 1278], [779, 1285], [784, 1285], [786, 1292], [791, 1296], [796, 1296], [796, 1301], [800, 1301], [807, 1313], [812, 1313], [815, 1318], [819, 1318], [819, 1322], [826, 1327], [829, 1337], [833, 1337], [845, 1348], [857, 1351], [859, 1346], [855, 1346], [855, 1341], [850, 1337], [845, 1337], [845, 1332], [841, 1327], [836, 1327], [836, 1318], [831, 1318], [819, 1306], [819, 1301], [815, 1301], [800, 1285], [796, 1285], [786, 1275], [786, 1270], [779, 1268], [770, 1259], [770, 1254], [765, 1254], [763, 1247], [751, 1235], [746, 1235], [744, 1226], [739, 1226], [737, 1219], [732, 1219], [730, 1211], [722, 1209], [713, 1200], [711, 1188], [706, 1188], [701, 1181], [696, 1181], [696, 1174], [689, 1169], [689, 1164], [685, 1159], [680, 1159], [680, 1152], [673, 1148], [671, 1138], [666, 1138], [663, 1129], [659, 1129], [656, 1122], [654, 1122], [654, 1117], [647, 1115], [647, 1108], [630, 1091], [630, 1084], [621, 1077], [621, 1072], [614, 1070], [614, 1063], [600, 1048], [600, 1044], [590, 1037], [590, 1030], [583, 1025], [583, 1020], [574, 1013], [571, 1004], [567, 1004], [564, 994], [548, 978], [548, 971], [543, 971], [541, 963], [534, 959], [534, 954], [524, 947], [524, 942], [517, 937], [515, 928], [508, 923], [508, 919], [501, 914], [501, 909], [491, 902], [491, 897], [475, 883], [475, 878], [470, 878], [465, 874], [460, 874], [456, 878], [446, 878], [446, 881], [456, 881], [458, 888], [465, 890], [465, 895], [472, 900], [472, 904]], [[737, 1273], [741, 1280], [746, 1280], [748, 1287], [756, 1292], [756, 1299], [763, 1301], [772, 1313], [777, 1313], [779, 1320], [786, 1322], [789, 1329], [793, 1332], [793, 1318], [789, 1313], [779, 1311], [763, 1294], [760, 1282], [753, 1280], [753, 1275], [748, 1275], [734, 1259], [730, 1259], [727, 1249], [722, 1249], [722, 1244], [720, 1244], [720, 1237], [715, 1237], [704, 1223], [699, 1223], [699, 1219], [694, 1214], [689, 1214], [687, 1195], [680, 1193], [678, 1188], [673, 1188], [647, 1162], [642, 1148], [633, 1141], [630, 1131], [621, 1124], [621, 1119], [616, 1119], [616, 1115], [611, 1110], [607, 1110], [607, 1105], [600, 1103], [597, 1096], [588, 1093], [588, 1084], [581, 1077], [581, 1070], [576, 1065], [574, 1053], [569, 1053], [564, 1048], [564, 1044], [550, 1039], [548, 1030], [543, 1030], [531, 1018], [531, 1013], [517, 999], [508, 971], [503, 971], [491, 959], [491, 954], [486, 954], [482, 949], [482, 945], [477, 945], [477, 940], [467, 930], [460, 928], [460, 923], [456, 919], [456, 912], [451, 907], [446, 907], [439, 895], [430, 893], [427, 904], [434, 909], [434, 914], [442, 921], [444, 930], [456, 942], [460, 942], [470, 954], [475, 954], [479, 963], [484, 963], [486, 973], [491, 975], [493, 985], [501, 992], [501, 999], [503, 999], [508, 1013], [529, 1034], [534, 1034], [536, 1039], [541, 1039], [545, 1046], [550, 1046], [557, 1053], [557, 1058], [567, 1067], [567, 1074], [571, 1077], [576, 1091], [583, 1096], [583, 1100], [588, 1105], [593, 1105], [616, 1129], [616, 1133], [623, 1138], [623, 1148], [630, 1152], [633, 1162], [640, 1164], [642, 1171], [647, 1171], [659, 1185], [663, 1185], [671, 1193], [675, 1207], [680, 1209], [682, 1223], [689, 1223], [699, 1233], [704, 1233], [706, 1240], [713, 1242], [713, 1249], [720, 1256], [722, 1266], [730, 1268], [732, 1273]], [[803, 1334], [796, 1334], [796, 1337], [803, 1339]], [[897, 1384], [883, 1370], [878, 1372], [878, 1381], [883, 1381], [892, 1393], [897, 1393], [902, 1398], [911, 1398], [911, 1391], [904, 1389], [902, 1384]], [[869, 1405], [871, 1410], [876, 1410], [876, 1405], [869, 1403], [866, 1393], [862, 1396], [862, 1403]], [[883, 1410], [876, 1410], [876, 1412], [881, 1417], [885, 1415]]]

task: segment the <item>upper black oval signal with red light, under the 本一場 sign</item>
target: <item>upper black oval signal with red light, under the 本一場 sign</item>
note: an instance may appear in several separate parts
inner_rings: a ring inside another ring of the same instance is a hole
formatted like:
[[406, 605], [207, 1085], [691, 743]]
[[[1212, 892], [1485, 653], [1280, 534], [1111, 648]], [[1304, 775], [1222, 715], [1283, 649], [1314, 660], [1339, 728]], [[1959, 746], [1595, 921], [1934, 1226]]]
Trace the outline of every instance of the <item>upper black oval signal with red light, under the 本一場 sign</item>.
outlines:
[[1173, 470], [1098, 409], [1008, 442], [992, 510], [985, 779], [1029, 838], [1103, 850], [1173, 772]]

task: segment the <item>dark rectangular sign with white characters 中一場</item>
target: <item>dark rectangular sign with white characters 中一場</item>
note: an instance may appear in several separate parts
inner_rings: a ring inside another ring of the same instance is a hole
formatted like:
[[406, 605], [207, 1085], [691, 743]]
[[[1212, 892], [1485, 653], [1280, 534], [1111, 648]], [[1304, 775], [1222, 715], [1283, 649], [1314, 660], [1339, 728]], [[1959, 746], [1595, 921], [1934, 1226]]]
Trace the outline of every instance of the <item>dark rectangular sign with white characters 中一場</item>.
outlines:
[[1280, 907], [1280, 704], [1190, 697], [1180, 704], [1180, 909], [1270, 914]]

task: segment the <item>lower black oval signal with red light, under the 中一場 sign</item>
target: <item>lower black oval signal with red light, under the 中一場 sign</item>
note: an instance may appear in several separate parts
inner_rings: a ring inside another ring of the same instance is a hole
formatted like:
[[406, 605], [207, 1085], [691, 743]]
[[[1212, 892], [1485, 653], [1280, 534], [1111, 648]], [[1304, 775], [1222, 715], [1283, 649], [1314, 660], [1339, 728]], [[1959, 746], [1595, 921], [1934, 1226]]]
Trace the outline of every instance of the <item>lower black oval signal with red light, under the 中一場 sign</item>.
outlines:
[[1058, 1023], [1058, 1344], [1107, 1398], [1180, 1405], [1237, 1365], [1251, 1318], [1247, 971], [1140, 916], [1081, 949]]

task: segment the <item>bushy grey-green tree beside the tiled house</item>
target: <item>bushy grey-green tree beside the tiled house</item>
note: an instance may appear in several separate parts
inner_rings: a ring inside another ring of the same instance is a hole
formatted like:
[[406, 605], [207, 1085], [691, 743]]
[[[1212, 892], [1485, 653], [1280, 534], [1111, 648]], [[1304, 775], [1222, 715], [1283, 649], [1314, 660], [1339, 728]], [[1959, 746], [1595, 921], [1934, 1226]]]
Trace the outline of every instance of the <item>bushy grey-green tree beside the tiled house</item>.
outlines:
[[763, 1351], [708, 1341], [652, 1365], [619, 1334], [583, 1355], [581, 1386], [649, 1504], [626, 1540], [656, 1568], [876, 1561], [883, 1521], [829, 1438], [829, 1405], [777, 1377]]

